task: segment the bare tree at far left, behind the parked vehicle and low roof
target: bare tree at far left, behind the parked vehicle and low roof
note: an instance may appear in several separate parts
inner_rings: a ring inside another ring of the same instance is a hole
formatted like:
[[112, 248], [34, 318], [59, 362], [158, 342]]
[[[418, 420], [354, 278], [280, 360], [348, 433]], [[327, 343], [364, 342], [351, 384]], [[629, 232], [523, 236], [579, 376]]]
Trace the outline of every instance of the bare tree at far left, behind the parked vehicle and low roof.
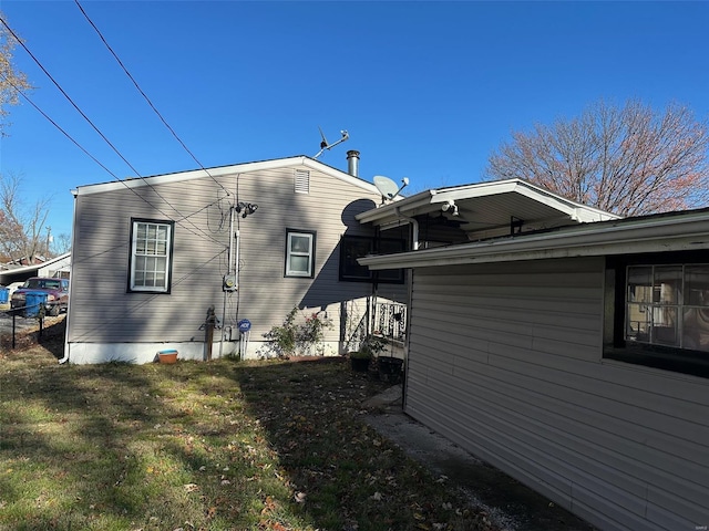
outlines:
[[49, 239], [42, 235], [49, 216], [49, 199], [27, 207], [20, 195], [21, 179], [0, 174], [0, 253], [31, 263], [34, 257], [49, 257]]

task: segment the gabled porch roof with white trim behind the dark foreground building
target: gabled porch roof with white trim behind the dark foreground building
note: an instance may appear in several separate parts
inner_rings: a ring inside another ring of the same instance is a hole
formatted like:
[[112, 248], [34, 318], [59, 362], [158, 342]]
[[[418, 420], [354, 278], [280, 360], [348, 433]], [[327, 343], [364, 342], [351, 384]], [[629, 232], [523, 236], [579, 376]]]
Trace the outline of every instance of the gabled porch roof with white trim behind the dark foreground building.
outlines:
[[407, 218], [431, 215], [460, 222], [471, 239], [508, 231], [512, 218], [524, 230], [619, 218], [524, 180], [508, 179], [425, 190], [362, 212], [357, 219], [386, 229], [407, 223]]

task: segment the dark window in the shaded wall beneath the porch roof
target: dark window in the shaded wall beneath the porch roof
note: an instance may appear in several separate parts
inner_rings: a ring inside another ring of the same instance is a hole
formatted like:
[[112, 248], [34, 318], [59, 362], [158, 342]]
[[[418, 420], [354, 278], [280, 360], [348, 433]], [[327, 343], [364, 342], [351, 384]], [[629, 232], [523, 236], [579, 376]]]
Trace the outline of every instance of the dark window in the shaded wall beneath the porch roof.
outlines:
[[368, 254], [391, 254], [405, 250], [405, 241], [394, 238], [373, 238], [368, 236], [343, 236], [340, 241], [340, 280], [349, 282], [403, 283], [402, 269], [371, 271], [360, 266], [357, 259]]

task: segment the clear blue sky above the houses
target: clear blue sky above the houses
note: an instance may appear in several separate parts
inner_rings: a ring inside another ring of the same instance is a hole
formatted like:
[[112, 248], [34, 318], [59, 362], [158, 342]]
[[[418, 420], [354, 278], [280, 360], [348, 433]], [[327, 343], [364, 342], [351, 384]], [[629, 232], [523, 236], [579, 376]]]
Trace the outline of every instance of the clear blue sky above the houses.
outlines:
[[[709, 2], [80, 0], [205, 167], [315, 155], [410, 191], [475, 183], [515, 129], [605, 98], [709, 117]], [[2, 0], [6, 20], [141, 176], [195, 169], [73, 0]], [[121, 178], [135, 177], [24, 50], [32, 102]], [[0, 170], [51, 196], [70, 233], [80, 185], [113, 180], [32, 105], [11, 107]]]

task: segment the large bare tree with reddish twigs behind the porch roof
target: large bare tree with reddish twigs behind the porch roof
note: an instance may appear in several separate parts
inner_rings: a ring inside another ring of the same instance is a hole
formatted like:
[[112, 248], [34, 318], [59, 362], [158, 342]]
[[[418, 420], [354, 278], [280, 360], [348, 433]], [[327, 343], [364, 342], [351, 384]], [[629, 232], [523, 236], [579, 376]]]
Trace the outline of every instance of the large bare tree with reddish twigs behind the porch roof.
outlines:
[[517, 177], [621, 216], [709, 201], [707, 123], [687, 107], [598, 102], [571, 121], [514, 132], [490, 157], [489, 179]]

